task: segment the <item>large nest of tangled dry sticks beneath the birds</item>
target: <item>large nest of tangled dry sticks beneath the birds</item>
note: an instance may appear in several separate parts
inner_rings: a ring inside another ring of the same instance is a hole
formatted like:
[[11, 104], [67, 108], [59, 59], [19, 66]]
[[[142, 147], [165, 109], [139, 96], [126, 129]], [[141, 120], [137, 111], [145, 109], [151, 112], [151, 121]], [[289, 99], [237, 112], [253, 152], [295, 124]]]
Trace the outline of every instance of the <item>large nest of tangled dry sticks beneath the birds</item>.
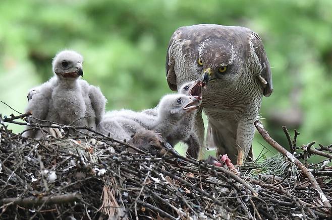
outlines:
[[[329, 216], [330, 210], [301, 173], [294, 178], [290, 163], [283, 172], [278, 170], [279, 176], [267, 172], [266, 161], [247, 164], [238, 175], [172, 151], [133, 152], [130, 144], [99, 136], [91, 129], [78, 137], [30, 139], [12, 133], [0, 122], [2, 219]], [[270, 166], [278, 166], [276, 161], [287, 162], [278, 156]], [[327, 180], [319, 177], [318, 183], [331, 201], [332, 186]]]

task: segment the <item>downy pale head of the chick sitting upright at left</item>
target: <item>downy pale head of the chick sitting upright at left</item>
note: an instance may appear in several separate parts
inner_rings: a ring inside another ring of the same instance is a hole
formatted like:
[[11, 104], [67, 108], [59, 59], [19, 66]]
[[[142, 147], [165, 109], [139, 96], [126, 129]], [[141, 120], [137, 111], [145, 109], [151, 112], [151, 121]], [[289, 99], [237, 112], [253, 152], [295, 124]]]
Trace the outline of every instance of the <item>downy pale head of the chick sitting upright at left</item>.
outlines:
[[83, 77], [83, 56], [73, 50], [63, 50], [53, 58], [52, 69], [61, 78]]

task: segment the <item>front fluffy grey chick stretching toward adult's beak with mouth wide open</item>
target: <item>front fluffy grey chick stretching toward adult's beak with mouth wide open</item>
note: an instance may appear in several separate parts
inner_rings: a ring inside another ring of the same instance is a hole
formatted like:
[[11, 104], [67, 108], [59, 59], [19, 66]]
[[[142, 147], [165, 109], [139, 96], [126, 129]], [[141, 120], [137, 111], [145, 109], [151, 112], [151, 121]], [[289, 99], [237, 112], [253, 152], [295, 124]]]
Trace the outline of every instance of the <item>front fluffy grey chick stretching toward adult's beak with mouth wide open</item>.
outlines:
[[141, 112], [120, 110], [107, 112], [97, 130], [114, 138], [128, 139], [139, 129], [154, 130], [162, 137], [174, 133], [184, 117], [191, 117], [200, 105], [200, 98], [183, 94], [166, 95], [161, 98], [157, 107], [157, 116], [141, 117]]

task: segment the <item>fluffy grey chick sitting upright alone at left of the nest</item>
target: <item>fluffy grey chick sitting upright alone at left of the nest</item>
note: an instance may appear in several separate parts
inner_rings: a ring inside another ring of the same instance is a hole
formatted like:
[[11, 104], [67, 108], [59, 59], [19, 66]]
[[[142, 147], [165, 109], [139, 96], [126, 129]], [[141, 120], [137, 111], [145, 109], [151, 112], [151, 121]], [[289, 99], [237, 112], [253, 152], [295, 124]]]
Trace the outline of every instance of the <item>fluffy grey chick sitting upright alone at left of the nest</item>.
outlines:
[[[52, 61], [56, 76], [30, 90], [26, 111], [41, 120], [95, 128], [104, 114], [106, 100], [99, 88], [79, 79], [83, 76], [82, 63], [83, 57], [75, 51], [59, 52]], [[29, 130], [24, 136], [35, 137], [40, 133]]]

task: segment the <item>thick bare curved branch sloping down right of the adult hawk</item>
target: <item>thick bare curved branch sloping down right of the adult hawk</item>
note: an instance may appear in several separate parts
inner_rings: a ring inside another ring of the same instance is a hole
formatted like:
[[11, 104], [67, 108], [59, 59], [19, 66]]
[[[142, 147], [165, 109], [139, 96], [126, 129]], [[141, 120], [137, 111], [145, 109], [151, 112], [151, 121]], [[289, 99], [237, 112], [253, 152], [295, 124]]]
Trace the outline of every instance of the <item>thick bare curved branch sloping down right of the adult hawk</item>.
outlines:
[[[329, 203], [328, 199], [324, 195], [323, 191], [321, 190], [320, 186], [318, 185], [315, 177], [312, 175], [312, 173], [298, 160], [296, 159], [290, 152], [288, 152], [283, 146], [281, 146], [278, 142], [272, 139], [268, 132], [265, 130], [263, 125], [259, 120], [256, 120], [254, 122], [255, 127], [257, 128], [258, 132], [262, 135], [262, 137], [266, 140], [267, 143], [269, 143], [273, 148], [280, 153], [282, 153], [289, 161], [294, 163], [302, 172], [307, 176], [309, 182], [313, 186], [313, 188], [318, 192], [320, 200], [323, 202], [323, 204], [326, 207], [331, 208], [331, 204]], [[296, 138], [294, 138], [296, 139]]]

